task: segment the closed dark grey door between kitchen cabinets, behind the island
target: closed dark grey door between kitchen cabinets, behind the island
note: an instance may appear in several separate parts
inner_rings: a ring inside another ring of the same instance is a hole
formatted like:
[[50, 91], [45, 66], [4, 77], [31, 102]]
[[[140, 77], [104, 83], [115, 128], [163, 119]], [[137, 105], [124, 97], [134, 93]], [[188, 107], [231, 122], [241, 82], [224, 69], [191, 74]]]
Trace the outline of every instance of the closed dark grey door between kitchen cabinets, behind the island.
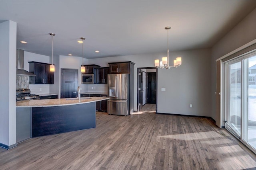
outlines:
[[61, 97], [76, 98], [78, 69], [61, 69]]

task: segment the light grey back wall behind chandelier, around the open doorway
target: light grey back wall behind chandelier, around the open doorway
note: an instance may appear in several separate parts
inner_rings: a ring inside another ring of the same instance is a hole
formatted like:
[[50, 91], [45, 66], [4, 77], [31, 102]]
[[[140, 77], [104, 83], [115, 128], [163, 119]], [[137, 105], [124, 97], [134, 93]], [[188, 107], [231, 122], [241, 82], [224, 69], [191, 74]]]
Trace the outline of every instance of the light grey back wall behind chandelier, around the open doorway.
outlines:
[[[111, 62], [134, 62], [134, 89], [137, 89], [137, 68], [154, 67], [154, 59], [164, 56], [166, 53], [108, 57], [89, 59], [88, 64], [108, 67]], [[170, 64], [176, 57], [182, 57], [182, 66], [179, 68], [158, 68], [158, 112], [209, 116], [210, 49], [170, 52]], [[166, 92], [161, 92], [161, 87], [166, 88]], [[189, 104], [193, 104], [193, 107], [189, 108]], [[136, 109], [137, 90], [134, 91]]]

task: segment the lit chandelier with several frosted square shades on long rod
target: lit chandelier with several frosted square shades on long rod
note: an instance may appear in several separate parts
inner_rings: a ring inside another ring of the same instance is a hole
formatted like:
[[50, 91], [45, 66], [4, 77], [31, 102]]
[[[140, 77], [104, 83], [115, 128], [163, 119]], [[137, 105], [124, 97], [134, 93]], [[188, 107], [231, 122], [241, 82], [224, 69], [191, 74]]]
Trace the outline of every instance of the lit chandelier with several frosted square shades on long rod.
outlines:
[[181, 65], [181, 57], [177, 57], [176, 60], [173, 61], [173, 66], [169, 66], [169, 29], [171, 27], [165, 27], [167, 29], [167, 57], [162, 57], [162, 61], [159, 63], [159, 60], [155, 60], [156, 68], [166, 68], [169, 70], [171, 67], [177, 68]]

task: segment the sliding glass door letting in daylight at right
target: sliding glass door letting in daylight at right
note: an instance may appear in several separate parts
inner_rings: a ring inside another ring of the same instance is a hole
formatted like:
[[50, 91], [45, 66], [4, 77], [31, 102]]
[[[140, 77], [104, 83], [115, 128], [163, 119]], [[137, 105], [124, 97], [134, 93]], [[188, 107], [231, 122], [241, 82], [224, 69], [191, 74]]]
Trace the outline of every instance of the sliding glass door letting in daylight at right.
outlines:
[[225, 64], [225, 128], [256, 152], [256, 53]]

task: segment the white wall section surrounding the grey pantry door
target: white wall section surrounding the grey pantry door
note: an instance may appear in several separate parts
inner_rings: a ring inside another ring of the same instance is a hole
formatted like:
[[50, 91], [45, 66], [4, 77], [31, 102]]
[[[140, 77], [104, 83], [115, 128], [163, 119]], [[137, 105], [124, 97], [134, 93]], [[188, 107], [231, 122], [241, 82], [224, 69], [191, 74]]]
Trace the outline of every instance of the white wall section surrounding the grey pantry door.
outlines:
[[[84, 65], [86, 64], [88, 64], [88, 59], [84, 59]], [[82, 57], [60, 55], [59, 72], [61, 68], [78, 69], [78, 86], [80, 86], [82, 88], [82, 91], [84, 91], [84, 89], [87, 88], [87, 86], [85, 84], [81, 84], [81, 65], [82, 65]], [[60, 87], [60, 84], [61, 84], [61, 76], [59, 76], [59, 87]], [[60, 94], [60, 91], [59, 91], [59, 94]]]

